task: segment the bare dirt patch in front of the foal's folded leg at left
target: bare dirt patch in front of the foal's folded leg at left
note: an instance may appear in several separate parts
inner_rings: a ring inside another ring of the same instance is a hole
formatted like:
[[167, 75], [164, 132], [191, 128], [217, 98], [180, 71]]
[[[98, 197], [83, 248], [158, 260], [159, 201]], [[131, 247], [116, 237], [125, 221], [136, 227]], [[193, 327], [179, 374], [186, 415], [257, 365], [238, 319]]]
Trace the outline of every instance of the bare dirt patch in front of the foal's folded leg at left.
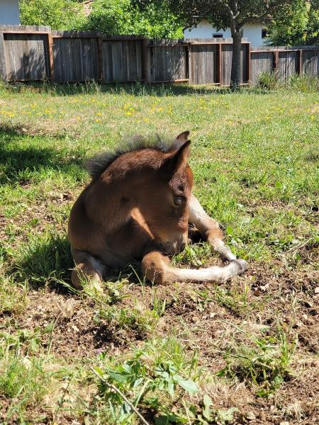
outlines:
[[135, 331], [117, 329], [106, 321], [94, 320], [93, 306], [72, 295], [60, 295], [49, 290], [33, 291], [30, 303], [19, 317], [21, 329], [45, 329], [54, 324], [51, 333], [43, 336], [43, 346], [48, 347], [52, 338], [50, 353], [62, 357], [94, 357], [101, 351], [116, 353], [139, 336]]

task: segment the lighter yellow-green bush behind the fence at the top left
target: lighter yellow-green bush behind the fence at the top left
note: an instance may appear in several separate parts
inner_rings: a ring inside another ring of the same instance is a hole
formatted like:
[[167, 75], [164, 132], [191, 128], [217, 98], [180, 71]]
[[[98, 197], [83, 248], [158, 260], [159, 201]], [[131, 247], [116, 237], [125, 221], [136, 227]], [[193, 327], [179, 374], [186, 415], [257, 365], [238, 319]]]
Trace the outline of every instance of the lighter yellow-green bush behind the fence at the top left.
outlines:
[[22, 25], [48, 25], [55, 30], [72, 30], [85, 19], [82, 4], [74, 0], [22, 0]]

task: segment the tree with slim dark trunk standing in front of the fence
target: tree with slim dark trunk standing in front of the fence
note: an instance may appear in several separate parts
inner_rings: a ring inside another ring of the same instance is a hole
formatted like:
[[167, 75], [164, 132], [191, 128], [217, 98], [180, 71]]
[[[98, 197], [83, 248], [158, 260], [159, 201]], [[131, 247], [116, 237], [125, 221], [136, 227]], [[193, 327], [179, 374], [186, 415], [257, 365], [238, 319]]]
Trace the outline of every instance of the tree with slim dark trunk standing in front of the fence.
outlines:
[[[160, 0], [136, 0], [143, 8], [149, 3], [162, 3]], [[231, 87], [240, 84], [240, 49], [242, 26], [247, 22], [263, 22], [279, 11], [286, 10], [293, 0], [165, 0], [170, 10], [184, 22], [184, 26], [194, 26], [196, 19], [207, 19], [218, 30], [230, 27], [233, 37], [233, 60]]]

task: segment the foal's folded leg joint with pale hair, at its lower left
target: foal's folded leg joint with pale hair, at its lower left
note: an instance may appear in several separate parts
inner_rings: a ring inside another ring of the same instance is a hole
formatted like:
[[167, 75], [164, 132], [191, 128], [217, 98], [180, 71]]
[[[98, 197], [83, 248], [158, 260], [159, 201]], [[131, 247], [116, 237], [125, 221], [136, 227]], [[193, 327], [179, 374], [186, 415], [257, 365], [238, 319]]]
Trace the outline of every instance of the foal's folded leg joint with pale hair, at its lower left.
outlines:
[[72, 270], [72, 283], [77, 289], [83, 289], [83, 283], [88, 282], [99, 291], [102, 291], [101, 283], [105, 266], [101, 261], [91, 256], [86, 251], [72, 249], [75, 268]]

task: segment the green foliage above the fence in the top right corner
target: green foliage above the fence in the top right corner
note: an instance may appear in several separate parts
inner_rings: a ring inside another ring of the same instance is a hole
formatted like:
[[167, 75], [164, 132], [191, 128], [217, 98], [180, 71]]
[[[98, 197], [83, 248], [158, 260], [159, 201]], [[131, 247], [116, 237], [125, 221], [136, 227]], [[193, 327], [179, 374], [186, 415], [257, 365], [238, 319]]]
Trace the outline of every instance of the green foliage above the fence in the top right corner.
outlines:
[[293, 0], [269, 26], [272, 45], [319, 43], [319, 1]]

